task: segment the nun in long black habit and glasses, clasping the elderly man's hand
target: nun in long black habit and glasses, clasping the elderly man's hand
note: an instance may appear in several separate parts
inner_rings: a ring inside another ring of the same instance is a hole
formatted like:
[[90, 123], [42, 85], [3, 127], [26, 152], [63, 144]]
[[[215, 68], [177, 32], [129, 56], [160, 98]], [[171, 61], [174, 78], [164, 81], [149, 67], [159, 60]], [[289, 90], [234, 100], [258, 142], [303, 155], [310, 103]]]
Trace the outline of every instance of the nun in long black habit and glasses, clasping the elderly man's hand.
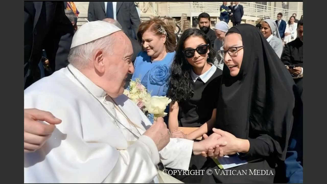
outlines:
[[246, 162], [228, 168], [228, 173], [208, 164], [207, 170], [217, 172], [204, 175], [201, 183], [282, 183], [295, 116], [295, 83], [263, 34], [250, 24], [228, 30], [222, 54], [213, 131], [227, 142], [219, 149], [230, 164]]

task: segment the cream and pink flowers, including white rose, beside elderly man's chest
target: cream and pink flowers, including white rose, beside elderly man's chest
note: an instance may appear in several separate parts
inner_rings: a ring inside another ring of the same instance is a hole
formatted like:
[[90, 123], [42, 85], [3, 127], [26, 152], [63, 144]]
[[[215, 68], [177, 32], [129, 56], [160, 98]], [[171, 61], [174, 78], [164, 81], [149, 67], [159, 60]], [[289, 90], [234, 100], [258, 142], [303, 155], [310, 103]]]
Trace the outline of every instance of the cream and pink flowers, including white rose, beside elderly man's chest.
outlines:
[[129, 90], [125, 89], [124, 94], [142, 110], [147, 116], [148, 113], [154, 115], [154, 120], [158, 117], [164, 117], [167, 113], [164, 112], [171, 99], [167, 97], [152, 96], [147, 92], [144, 85], [140, 83], [140, 79], [130, 81]]

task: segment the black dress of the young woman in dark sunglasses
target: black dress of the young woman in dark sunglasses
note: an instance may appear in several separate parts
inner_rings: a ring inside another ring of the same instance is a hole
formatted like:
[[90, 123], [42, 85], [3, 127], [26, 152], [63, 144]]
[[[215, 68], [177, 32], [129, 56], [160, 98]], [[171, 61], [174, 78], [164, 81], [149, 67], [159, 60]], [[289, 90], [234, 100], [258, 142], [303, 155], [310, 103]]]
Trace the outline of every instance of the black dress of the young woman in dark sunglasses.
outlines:
[[[213, 68], [216, 68], [214, 73], [212, 72]], [[196, 82], [192, 81], [194, 90], [193, 97], [179, 104], [178, 121], [180, 127], [200, 127], [211, 119], [212, 112], [216, 108], [217, 93], [219, 91], [222, 71], [216, 66], [212, 66], [210, 70], [208, 70], [208, 72], [210, 72], [209, 76], [200, 76]], [[210, 77], [210, 75], [212, 76]], [[201, 155], [192, 155], [189, 170], [204, 169], [207, 167], [208, 163], [210, 163], [208, 159], [211, 158], [206, 158]], [[202, 179], [202, 175], [183, 175], [182, 172], [181, 175], [177, 172], [176, 175], [172, 176], [184, 183], [199, 183]]]

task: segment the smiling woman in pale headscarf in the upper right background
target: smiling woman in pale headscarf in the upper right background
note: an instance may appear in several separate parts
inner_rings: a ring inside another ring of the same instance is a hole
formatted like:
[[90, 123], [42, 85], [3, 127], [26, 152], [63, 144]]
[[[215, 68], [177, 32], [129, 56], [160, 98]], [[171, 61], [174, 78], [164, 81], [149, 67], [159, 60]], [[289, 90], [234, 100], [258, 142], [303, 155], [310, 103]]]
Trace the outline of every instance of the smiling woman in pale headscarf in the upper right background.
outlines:
[[261, 25], [261, 33], [267, 39], [269, 45], [274, 49], [279, 58], [283, 52], [283, 41], [279, 35], [277, 24], [272, 19], [265, 19]]

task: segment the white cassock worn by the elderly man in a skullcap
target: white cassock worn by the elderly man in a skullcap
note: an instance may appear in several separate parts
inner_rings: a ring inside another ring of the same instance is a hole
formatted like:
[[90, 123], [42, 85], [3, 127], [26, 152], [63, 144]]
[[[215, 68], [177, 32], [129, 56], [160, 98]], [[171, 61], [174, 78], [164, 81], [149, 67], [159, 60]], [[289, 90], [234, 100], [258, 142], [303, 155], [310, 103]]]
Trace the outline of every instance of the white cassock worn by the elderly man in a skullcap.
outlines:
[[[69, 68], [96, 99], [138, 135], [103, 89], [74, 66]], [[137, 140], [96, 99], [67, 67], [24, 91], [24, 108], [49, 111], [62, 120], [40, 150], [24, 154], [25, 183], [151, 183], [158, 181], [155, 165], [160, 157], [166, 167], [188, 170], [192, 140], [171, 138], [158, 152], [151, 138], [143, 135]], [[125, 95], [114, 101], [141, 134], [150, 127], [150, 121]]]

